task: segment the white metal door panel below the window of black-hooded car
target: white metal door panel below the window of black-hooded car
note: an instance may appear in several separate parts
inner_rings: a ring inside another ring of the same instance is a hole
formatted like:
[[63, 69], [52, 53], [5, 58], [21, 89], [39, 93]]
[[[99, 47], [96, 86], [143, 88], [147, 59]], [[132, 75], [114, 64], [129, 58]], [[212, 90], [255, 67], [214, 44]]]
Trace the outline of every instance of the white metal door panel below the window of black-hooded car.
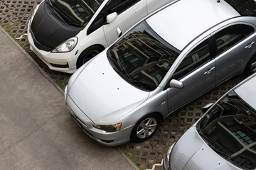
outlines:
[[111, 45], [119, 37], [117, 28], [120, 28], [124, 33], [139, 20], [134, 18], [144, 18], [146, 15], [146, 0], [139, 0], [136, 4], [119, 13], [114, 21], [103, 26], [107, 44]]

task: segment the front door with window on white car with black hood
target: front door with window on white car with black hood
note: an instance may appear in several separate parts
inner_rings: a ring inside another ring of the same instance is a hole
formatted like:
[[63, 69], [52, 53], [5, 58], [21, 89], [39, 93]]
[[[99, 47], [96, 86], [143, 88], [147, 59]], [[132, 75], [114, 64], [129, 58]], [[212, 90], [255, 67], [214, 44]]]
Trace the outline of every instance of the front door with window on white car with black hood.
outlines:
[[117, 12], [117, 18], [103, 26], [108, 45], [147, 15], [146, 0], [113, 0], [108, 6], [109, 13]]

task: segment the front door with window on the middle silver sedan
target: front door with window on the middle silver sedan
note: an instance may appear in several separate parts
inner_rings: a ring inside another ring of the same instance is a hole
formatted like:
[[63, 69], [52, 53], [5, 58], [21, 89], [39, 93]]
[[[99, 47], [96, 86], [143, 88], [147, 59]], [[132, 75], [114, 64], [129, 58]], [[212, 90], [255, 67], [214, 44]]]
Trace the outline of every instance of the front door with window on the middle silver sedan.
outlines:
[[[209, 39], [210, 40], [210, 39]], [[181, 81], [183, 88], [169, 87], [169, 112], [183, 106], [215, 86], [215, 60], [208, 39], [183, 58], [171, 79]]]

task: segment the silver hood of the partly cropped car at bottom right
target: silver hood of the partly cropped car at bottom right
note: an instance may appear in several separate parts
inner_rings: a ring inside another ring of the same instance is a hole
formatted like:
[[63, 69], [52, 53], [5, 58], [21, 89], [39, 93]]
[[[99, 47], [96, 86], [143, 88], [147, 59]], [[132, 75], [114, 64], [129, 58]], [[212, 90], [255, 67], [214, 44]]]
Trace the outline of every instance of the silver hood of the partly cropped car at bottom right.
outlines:
[[171, 169], [238, 169], [213, 151], [193, 126], [176, 142], [171, 151]]

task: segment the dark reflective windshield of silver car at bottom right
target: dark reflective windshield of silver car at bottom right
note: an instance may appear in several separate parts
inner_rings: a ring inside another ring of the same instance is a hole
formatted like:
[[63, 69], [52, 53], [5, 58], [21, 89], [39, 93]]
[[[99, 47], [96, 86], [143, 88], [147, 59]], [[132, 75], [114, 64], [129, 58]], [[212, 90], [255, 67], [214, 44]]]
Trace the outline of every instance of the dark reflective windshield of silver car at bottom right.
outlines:
[[256, 168], [256, 112], [235, 91], [211, 108], [197, 128], [220, 156], [242, 169]]

